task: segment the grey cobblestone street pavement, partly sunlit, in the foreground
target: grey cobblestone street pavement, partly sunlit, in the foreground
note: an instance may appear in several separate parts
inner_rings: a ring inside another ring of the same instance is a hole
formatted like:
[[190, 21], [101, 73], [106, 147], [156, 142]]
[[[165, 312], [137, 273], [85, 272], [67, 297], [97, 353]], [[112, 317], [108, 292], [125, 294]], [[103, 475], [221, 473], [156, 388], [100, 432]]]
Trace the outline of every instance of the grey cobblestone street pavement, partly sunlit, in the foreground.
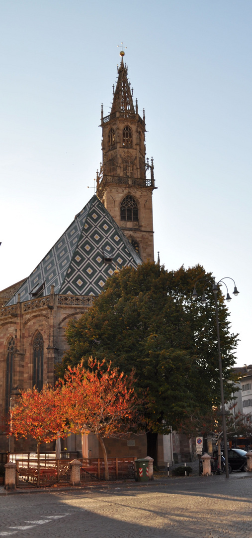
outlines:
[[1, 495], [0, 538], [251, 538], [252, 476]]

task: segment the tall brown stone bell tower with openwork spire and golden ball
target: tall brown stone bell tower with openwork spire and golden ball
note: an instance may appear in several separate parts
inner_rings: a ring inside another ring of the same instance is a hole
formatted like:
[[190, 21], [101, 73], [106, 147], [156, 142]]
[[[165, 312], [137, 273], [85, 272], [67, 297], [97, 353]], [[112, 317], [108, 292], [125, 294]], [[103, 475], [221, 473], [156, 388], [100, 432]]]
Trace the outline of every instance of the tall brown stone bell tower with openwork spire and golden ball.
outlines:
[[152, 192], [153, 159], [146, 159], [145, 111], [133, 104], [133, 89], [128, 82], [124, 51], [120, 52], [116, 89], [108, 116], [103, 115], [103, 162], [97, 171], [97, 196], [143, 261], [154, 260]]

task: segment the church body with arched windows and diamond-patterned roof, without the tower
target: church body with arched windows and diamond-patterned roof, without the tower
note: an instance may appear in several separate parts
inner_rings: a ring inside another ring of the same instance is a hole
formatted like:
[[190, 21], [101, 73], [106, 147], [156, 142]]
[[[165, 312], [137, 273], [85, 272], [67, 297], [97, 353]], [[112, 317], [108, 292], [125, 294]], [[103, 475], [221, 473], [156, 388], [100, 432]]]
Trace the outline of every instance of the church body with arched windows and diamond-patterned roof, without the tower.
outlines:
[[[52, 249], [0, 309], [0, 403], [20, 390], [54, 383], [67, 343], [64, 328], [93, 304], [115, 270], [137, 267], [139, 254], [94, 195]], [[6, 292], [10, 293], [10, 291]], [[8, 441], [0, 435], [0, 451]], [[16, 442], [25, 447], [25, 442]], [[13, 448], [13, 447], [12, 447]]]

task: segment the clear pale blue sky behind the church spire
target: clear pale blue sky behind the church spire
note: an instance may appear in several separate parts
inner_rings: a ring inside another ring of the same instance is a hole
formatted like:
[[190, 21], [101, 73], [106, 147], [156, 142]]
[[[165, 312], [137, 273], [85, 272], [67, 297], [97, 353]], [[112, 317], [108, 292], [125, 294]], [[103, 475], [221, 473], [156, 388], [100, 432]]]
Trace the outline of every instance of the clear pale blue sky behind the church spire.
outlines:
[[93, 195], [123, 41], [154, 158], [155, 259], [235, 280], [237, 365], [250, 364], [251, 0], [8, 0], [0, 13], [0, 289]]

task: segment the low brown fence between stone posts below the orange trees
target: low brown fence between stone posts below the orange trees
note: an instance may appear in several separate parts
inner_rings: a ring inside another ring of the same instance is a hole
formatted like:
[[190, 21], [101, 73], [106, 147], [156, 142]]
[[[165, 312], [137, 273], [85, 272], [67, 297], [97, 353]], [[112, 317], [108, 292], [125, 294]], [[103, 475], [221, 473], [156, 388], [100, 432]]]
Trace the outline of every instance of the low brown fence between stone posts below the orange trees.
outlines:
[[[105, 480], [103, 458], [78, 457], [78, 452], [63, 452], [61, 459], [55, 458], [55, 452], [40, 454], [40, 486], [67, 484], [70, 482], [70, 462], [79, 459], [81, 482]], [[17, 486], [37, 486], [38, 456], [33, 452], [15, 452], [9, 454], [9, 461], [17, 464]], [[133, 479], [135, 457], [108, 458], [110, 480]]]

